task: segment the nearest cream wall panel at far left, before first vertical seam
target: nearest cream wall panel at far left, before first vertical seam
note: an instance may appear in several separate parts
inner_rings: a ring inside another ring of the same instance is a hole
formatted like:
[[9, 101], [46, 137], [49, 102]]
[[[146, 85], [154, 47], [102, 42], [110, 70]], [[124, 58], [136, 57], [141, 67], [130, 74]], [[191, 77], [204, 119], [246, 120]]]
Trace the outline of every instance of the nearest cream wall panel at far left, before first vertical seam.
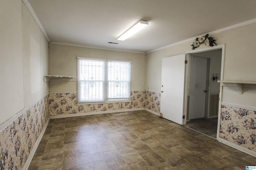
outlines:
[[0, 124], [24, 107], [21, 0], [0, 0]]

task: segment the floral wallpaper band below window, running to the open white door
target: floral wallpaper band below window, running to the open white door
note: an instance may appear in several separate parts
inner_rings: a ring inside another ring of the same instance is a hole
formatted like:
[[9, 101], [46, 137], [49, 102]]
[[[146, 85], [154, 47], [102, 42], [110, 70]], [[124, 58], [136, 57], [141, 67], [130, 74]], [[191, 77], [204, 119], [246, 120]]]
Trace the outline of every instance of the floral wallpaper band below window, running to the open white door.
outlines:
[[[51, 115], [65, 115], [97, 111], [144, 108], [146, 100], [145, 95], [149, 96], [145, 91], [132, 91], [130, 99], [131, 102], [77, 105], [77, 93], [51, 93], [49, 97], [49, 109]], [[151, 101], [150, 99], [150, 102], [147, 104], [147, 106], [152, 104], [150, 108], [157, 110], [160, 105], [160, 102], [158, 104], [160, 99], [155, 93], [152, 95], [152, 92], [148, 99], [151, 96], [156, 96], [152, 98], [152, 100], [156, 100], [157, 104], [153, 104], [154, 101]]]

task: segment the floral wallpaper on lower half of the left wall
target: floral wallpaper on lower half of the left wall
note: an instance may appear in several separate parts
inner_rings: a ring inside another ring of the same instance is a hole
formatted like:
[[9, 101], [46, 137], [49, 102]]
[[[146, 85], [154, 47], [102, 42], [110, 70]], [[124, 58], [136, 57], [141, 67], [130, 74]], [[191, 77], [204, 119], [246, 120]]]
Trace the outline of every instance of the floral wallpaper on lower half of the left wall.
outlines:
[[48, 119], [47, 95], [0, 131], [0, 170], [23, 168]]

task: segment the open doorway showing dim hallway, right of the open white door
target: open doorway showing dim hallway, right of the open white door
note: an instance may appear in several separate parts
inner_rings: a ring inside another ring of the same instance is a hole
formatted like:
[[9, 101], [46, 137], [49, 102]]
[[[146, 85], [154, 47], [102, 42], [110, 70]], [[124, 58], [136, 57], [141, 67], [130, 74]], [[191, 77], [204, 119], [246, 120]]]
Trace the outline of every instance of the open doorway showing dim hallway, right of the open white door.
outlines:
[[[222, 49], [190, 54], [186, 127], [217, 138]], [[219, 79], [220, 80], [220, 79]]]

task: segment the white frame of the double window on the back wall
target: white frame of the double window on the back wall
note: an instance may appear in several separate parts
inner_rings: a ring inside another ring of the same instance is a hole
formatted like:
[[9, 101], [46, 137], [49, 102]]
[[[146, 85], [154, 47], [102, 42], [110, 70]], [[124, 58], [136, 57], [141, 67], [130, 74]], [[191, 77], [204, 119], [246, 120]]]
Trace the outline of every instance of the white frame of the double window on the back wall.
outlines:
[[[80, 61], [81, 60], [90, 60], [90, 61], [104, 61], [104, 83], [103, 83], [103, 100], [80, 100], [81, 99], [81, 80], [80, 80]], [[124, 62], [130, 63], [129, 64], [129, 82], [128, 82], [128, 97], [127, 98], [108, 98], [108, 62]], [[114, 102], [123, 102], [123, 101], [130, 101], [130, 92], [131, 92], [131, 73], [132, 73], [132, 61], [122, 61], [122, 60], [109, 60], [109, 59], [96, 59], [96, 58], [86, 58], [86, 57], [77, 57], [77, 103], [78, 104], [93, 104], [93, 103], [114, 103]]]

